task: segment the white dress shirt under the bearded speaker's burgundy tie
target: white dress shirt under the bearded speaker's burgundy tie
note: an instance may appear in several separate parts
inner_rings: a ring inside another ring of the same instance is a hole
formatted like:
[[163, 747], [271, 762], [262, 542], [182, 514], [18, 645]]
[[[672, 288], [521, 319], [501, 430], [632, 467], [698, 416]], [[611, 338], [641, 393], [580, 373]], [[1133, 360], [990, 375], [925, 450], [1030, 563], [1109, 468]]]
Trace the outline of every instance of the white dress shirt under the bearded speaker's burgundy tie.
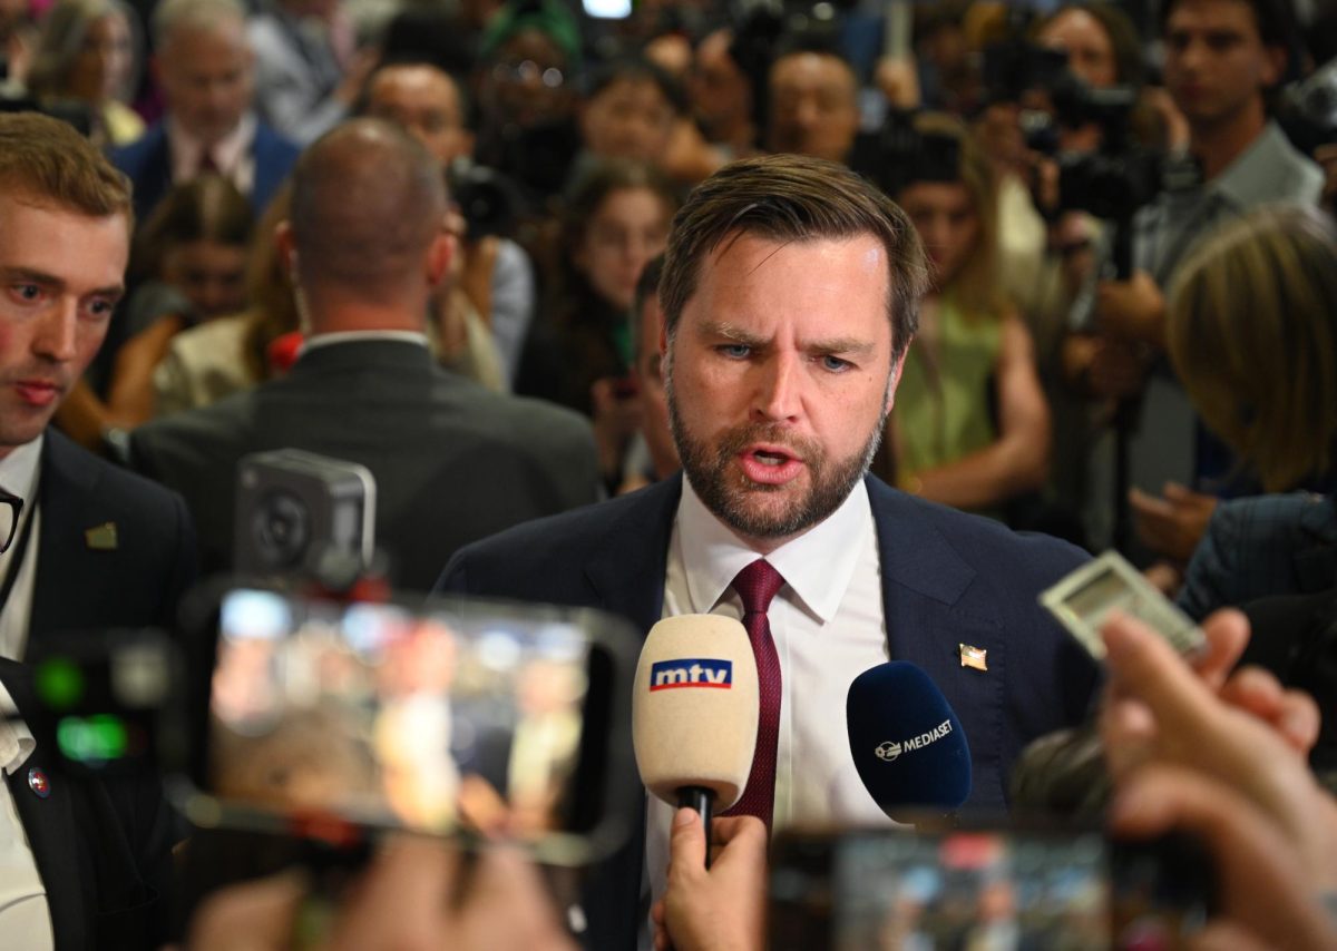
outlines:
[[[683, 478], [668, 542], [663, 616], [741, 620], [742, 601], [730, 585], [758, 557]], [[864, 482], [829, 518], [766, 561], [785, 578], [767, 612], [781, 668], [774, 828], [890, 824], [858, 777], [845, 728], [850, 683], [888, 660], [877, 532]], [[646, 868], [655, 899], [664, 888], [673, 813], [673, 807], [650, 797]]]

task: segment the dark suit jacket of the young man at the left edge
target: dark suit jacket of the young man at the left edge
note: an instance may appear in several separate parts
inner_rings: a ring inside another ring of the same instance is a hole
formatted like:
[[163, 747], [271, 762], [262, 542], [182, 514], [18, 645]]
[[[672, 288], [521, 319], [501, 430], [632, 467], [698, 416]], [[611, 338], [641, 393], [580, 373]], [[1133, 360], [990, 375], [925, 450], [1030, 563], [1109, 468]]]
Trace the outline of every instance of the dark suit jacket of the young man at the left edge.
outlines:
[[[179, 496], [55, 429], [43, 443], [39, 494], [29, 652], [55, 632], [175, 626], [178, 601], [195, 580], [195, 533]], [[114, 546], [104, 544], [108, 525]], [[96, 544], [90, 529], [100, 529]], [[156, 777], [62, 773], [53, 741], [41, 741], [28, 668], [0, 660], [0, 679], [39, 736], [8, 784], [47, 888], [57, 951], [158, 947], [170, 920], [175, 827]], [[31, 768], [51, 777], [47, 799], [28, 788]]]

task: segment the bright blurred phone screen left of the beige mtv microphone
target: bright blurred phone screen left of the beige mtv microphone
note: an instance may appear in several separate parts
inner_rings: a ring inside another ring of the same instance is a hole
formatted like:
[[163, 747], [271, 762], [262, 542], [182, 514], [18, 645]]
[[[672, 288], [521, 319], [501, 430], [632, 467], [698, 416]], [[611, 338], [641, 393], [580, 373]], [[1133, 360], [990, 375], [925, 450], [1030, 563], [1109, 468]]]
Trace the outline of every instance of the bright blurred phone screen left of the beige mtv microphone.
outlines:
[[218, 617], [198, 785], [237, 824], [536, 844], [596, 824], [578, 800], [596, 795], [591, 759], [607, 749], [587, 713], [611, 693], [588, 613], [237, 589]]

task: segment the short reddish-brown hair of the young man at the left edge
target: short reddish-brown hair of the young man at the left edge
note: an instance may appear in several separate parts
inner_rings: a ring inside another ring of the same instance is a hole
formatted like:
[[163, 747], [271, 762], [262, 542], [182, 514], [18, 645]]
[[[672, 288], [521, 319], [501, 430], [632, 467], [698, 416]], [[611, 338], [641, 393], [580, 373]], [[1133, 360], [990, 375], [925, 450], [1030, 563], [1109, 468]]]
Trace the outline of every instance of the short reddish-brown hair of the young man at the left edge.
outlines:
[[134, 223], [130, 179], [72, 126], [37, 112], [0, 114], [0, 194]]

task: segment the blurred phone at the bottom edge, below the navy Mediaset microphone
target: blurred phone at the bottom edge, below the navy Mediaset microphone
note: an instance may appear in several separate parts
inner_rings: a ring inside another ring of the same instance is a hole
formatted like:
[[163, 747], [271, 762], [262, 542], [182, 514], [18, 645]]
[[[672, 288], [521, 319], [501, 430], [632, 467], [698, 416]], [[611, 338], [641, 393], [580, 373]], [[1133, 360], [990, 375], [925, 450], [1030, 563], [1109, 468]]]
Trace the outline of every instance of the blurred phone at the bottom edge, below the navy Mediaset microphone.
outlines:
[[1182, 839], [1111, 844], [1098, 831], [877, 831], [779, 855], [773, 948], [1175, 948], [1209, 892]]

